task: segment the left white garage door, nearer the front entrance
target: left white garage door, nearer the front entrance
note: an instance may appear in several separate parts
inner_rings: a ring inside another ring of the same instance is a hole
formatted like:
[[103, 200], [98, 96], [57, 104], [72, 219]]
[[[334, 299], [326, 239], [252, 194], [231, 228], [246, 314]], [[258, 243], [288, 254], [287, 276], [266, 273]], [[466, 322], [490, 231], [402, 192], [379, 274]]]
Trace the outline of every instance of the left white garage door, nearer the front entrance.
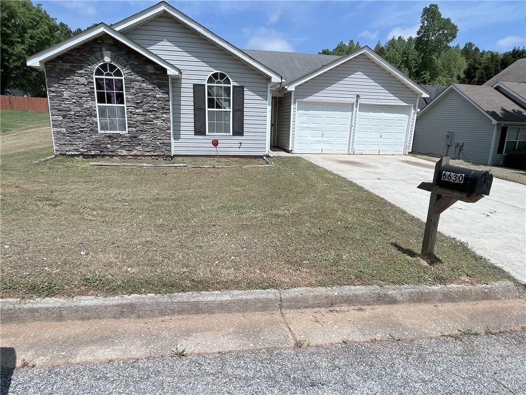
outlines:
[[346, 154], [349, 152], [352, 104], [298, 103], [295, 152]]

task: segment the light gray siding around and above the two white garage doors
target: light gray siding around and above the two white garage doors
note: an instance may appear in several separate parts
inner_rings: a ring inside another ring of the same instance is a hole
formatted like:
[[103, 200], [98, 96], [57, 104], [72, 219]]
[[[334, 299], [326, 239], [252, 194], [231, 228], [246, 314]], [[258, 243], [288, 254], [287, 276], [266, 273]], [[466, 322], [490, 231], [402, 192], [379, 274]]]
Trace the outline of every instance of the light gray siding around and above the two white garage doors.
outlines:
[[[407, 85], [388, 73], [366, 55], [359, 55], [351, 60], [332, 68], [331, 70], [296, 86], [294, 92], [292, 117], [292, 147], [295, 138], [295, 118], [298, 100], [341, 101], [356, 102], [356, 95], [360, 95], [361, 102], [377, 104], [410, 105], [411, 124], [407, 152], [411, 150], [414, 130], [414, 109], [417, 105], [418, 94]], [[352, 131], [356, 127], [356, 111], [353, 114]], [[354, 149], [354, 136], [351, 135], [351, 149]]]

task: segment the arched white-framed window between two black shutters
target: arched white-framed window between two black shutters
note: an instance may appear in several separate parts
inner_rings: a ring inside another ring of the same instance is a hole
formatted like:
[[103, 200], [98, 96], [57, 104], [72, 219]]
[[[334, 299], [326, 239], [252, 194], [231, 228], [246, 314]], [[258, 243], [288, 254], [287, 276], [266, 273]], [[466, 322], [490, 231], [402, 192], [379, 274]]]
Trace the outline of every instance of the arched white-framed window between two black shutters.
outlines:
[[232, 134], [232, 82], [216, 71], [206, 81], [206, 134]]

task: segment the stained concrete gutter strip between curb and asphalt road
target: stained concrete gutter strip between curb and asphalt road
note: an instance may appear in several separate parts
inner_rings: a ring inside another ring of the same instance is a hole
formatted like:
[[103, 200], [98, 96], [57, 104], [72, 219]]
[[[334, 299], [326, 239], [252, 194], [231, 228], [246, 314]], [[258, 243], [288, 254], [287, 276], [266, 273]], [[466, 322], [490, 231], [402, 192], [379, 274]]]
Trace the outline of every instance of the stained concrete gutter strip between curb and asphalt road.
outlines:
[[188, 354], [301, 348], [518, 330], [524, 325], [524, 300], [507, 299], [11, 323], [0, 325], [0, 344], [3, 364], [16, 355], [16, 366], [42, 367], [170, 356], [176, 347]]

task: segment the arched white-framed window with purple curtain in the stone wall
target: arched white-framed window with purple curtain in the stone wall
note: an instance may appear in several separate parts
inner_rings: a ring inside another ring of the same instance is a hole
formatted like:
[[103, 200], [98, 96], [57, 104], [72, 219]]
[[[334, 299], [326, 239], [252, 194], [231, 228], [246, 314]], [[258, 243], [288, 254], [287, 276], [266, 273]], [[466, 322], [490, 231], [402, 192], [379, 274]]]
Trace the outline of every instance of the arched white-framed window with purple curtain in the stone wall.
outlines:
[[113, 63], [103, 63], [94, 78], [99, 132], [126, 133], [123, 72]]

